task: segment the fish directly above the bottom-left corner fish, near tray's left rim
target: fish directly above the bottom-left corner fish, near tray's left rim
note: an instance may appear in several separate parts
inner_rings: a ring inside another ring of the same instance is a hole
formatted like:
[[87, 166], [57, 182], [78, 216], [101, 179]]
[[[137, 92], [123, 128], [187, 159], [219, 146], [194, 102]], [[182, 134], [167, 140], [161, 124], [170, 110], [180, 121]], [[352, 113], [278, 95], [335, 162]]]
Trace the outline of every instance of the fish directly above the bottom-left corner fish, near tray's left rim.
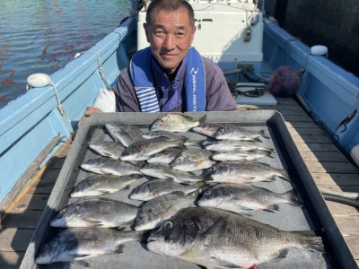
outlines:
[[58, 211], [52, 227], [124, 228], [135, 219], [137, 207], [117, 200], [90, 198], [79, 200]]

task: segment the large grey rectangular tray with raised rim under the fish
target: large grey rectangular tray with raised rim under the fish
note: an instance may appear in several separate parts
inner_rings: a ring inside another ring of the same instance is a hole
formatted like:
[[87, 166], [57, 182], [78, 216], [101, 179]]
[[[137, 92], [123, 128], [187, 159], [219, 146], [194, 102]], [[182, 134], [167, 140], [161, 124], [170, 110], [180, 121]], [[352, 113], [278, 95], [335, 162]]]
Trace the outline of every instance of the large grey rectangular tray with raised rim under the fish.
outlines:
[[[265, 130], [271, 139], [264, 142], [265, 146], [276, 149], [275, 158], [261, 159], [279, 169], [287, 169], [292, 183], [282, 179], [274, 182], [257, 183], [258, 187], [266, 187], [276, 193], [284, 193], [294, 188], [297, 198], [303, 207], [294, 207], [290, 204], [280, 204], [280, 213], [258, 212], [250, 217], [256, 221], [264, 222], [279, 230], [315, 230], [322, 237], [325, 245], [325, 254], [310, 252], [308, 250], [291, 249], [287, 256], [278, 258], [268, 263], [258, 265], [258, 268], [355, 268], [353, 255], [346, 246], [345, 239], [337, 229], [337, 225], [331, 217], [311, 174], [304, 165], [292, 137], [289, 134], [285, 121], [281, 114], [274, 110], [246, 111], [246, 112], [196, 112], [185, 113], [199, 119], [207, 115], [208, 123], [233, 123], [249, 130]], [[72, 204], [78, 199], [70, 198], [72, 188], [84, 178], [90, 176], [89, 172], [80, 169], [80, 165], [87, 160], [99, 157], [87, 147], [93, 140], [111, 140], [105, 131], [104, 125], [111, 122], [122, 122], [139, 126], [144, 132], [148, 130], [153, 121], [162, 116], [162, 113], [101, 113], [85, 118], [79, 128], [71, 151], [68, 153], [65, 164], [57, 178], [57, 183], [48, 199], [48, 204], [41, 216], [39, 225], [31, 240], [21, 268], [80, 268], [78, 263], [56, 263], [51, 265], [37, 265], [36, 256], [43, 244], [52, 239], [58, 229], [49, 226], [50, 219], [57, 211], [67, 204]], [[188, 132], [188, 138], [205, 138], [200, 134]], [[128, 204], [141, 204], [139, 201], [128, 199], [130, 191], [140, 181], [121, 190], [116, 194], [102, 195]], [[145, 244], [138, 242], [125, 243], [123, 254], [111, 254], [87, 259], [91, 268], [136, 268], [136, 269], [160, 269], [160, 268], [199, 268], [178, 258], [160, 256], [145, 249]]]

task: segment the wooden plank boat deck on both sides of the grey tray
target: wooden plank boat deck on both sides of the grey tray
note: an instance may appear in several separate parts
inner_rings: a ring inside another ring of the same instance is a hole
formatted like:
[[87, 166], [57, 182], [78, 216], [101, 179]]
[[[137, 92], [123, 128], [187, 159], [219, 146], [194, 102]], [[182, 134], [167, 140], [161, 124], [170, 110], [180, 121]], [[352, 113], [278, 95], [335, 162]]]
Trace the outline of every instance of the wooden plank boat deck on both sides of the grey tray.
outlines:
[[[336, 191], [359, 192], [359, 169], [346, 159], [295, 100], [277, 101], [275, 107], [262, 108], [276, 109], [282, 113], [316, 184]], [[6, 215], [0, 231], [0, 268], [17, 268], [21, 265], [70, 148], [71, 143], [65, 143], [48, 165], [39, 170]], [[334, 202], [327, 204], [359, 265], [358, 209]]]

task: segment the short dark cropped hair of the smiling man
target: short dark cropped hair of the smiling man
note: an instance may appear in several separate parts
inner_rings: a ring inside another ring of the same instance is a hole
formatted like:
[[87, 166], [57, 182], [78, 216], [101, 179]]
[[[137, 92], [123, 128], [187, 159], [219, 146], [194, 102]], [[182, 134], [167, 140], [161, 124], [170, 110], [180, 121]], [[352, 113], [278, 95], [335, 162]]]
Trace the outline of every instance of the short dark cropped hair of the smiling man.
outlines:
[[195, 12], [193, 11], [192, 5], [190, 5], [186, 0], [153, 0], [148, 6], [146, 13], [146, 23], [151, 25], [153, 22], [153, 16], [156, 11], [164, 10], [168, 12], [173, 12], [179, 10], [180, 8], [185, 8], [188, 11], [189, 24], [195, 26]]

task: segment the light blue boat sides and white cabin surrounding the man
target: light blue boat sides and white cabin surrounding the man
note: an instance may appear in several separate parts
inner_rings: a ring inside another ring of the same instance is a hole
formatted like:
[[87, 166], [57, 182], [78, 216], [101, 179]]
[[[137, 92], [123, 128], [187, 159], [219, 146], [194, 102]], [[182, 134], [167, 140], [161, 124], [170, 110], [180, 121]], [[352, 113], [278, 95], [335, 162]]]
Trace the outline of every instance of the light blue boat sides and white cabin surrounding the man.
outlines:
[[[99, 92], [110, 91], [131, 56], [147, 46], [142, 26], [147, 2], [132, 1], [130, 15], [118, 28], [56, 73], [29, 77], [30, 89], [0, 110], [0, 213], [9, 213], [9, 205], [35, 172], [72, 141], [84, 110]], [[285, 108], [301, 108], [355, 167], [350, 174], [357, 178], [359, 78], [332, 63], [324, 46], [309, 48], [264, 17], [257, 4], [237, 0], [190, 4], [197, 25], [193, 47], [228, 74], [238, 104], [282, 109], [283, 114]], [[267, 87], [270, 75], [281, 66], [292, 66], [300, 74], [301, 83], [291, 97], [277, 98]], [[304, 136], [316, 131], [312, 132]], [[346, 255], [342, 259], [355, 260]]]

